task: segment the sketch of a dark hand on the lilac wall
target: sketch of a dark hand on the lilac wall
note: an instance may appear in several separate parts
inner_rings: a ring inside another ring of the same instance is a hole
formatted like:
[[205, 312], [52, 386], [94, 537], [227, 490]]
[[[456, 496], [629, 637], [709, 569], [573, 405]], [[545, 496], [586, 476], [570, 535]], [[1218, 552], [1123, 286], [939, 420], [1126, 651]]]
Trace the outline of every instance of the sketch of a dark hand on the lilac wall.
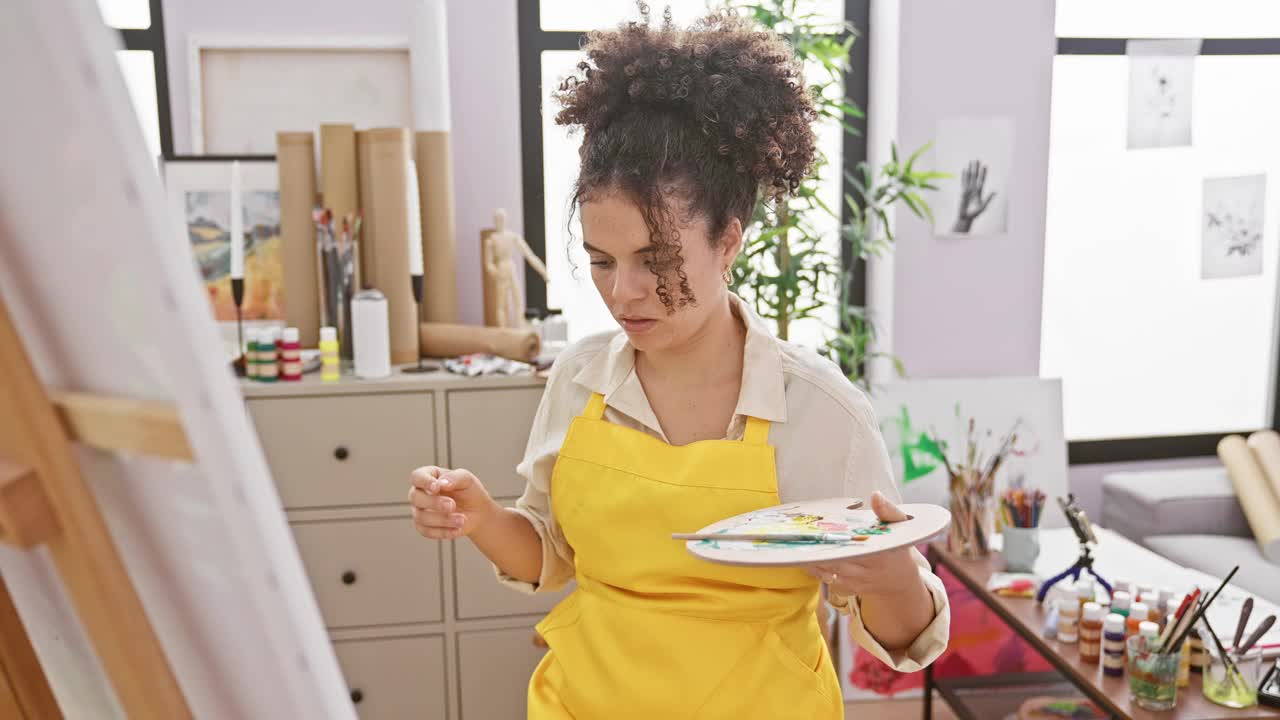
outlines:
[[1009, 176], [1014, 120], [1009, 117], [954, 117], [938, 120], [936, 170], [940, 236], [1001, 234], [1009, 228]]

